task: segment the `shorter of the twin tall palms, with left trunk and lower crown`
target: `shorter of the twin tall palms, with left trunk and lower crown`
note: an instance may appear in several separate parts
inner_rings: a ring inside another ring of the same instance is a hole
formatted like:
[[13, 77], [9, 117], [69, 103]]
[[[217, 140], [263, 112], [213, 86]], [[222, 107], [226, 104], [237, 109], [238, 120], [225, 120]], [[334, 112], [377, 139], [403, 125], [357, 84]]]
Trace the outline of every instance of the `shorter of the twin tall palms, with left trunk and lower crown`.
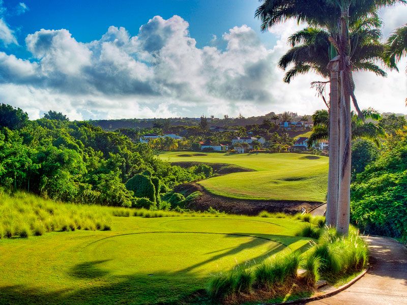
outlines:
[[[351, 43], [354, 51], [351, 57], [351, 70], [366, 70], [376, 75], [386, 76], [376, 62], [386, 63], [385, 45], [380, 42], [381, 32], [378, 27], [381, 26], [380, 19], [375, 16], [368, 16], [354, 20], [351, 24]], [[296, 75], [304, 74], [309, 71], [331, 82], [331, 99], [338, 92], [337, 73], [330, 72], [328, 64], [330, 62], [331, 43], [329, 41], [330, 33], [322, 27], [307, 27], [294, 33], [289, 37], [288, 42], [292, 46], [279, 61], [279, 67], [286, 69], [293, 65], [284, 77], [284, 82], [289, 83]], [[331, 74], [333, 74], [331, 79]], [[325, 84], [327, 82], [316, 82], [318, 84], [319, 94], [322, 96], [328, 109], [331, 107], [324, 97]], [[337, 98], [333, 99], [337, 100]], [[331, 120], [338, 121], [338, 105], [332, 104], [330, 111]], [[333, 125], [330, 130], [332, 133], [332, 144], [330, 145], [330, 164], [328, 178], [328, 208], [326, 213], [327, 224], [336, 225], [337, 222], [337, 201], [338, 201], [338, 180], [339, 180], [339, 153], [338, 153], [338, 128]]]

